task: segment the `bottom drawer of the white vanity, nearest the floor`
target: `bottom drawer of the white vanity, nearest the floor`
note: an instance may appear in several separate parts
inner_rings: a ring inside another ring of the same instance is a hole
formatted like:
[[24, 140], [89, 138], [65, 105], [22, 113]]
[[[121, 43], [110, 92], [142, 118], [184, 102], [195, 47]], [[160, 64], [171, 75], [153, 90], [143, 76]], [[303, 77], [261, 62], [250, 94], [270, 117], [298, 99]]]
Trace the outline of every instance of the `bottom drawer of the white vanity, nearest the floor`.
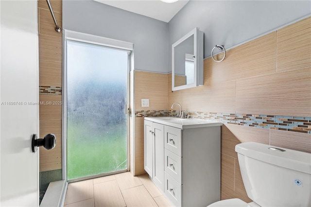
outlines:
[[182, 205], [182, 185], [174, 180], [168, 173], [165, 172], [165, 196], [173, 203], [176, 207], [181, 207]]

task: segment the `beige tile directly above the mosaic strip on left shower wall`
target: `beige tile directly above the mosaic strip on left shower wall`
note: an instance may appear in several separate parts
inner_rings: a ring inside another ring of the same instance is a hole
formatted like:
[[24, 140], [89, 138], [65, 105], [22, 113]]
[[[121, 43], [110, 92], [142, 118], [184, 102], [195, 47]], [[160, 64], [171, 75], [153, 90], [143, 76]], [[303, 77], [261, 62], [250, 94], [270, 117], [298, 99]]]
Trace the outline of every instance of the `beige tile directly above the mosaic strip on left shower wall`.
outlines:
[[61, 62], [40, 60], [39, 68], [39, 86], [62, 86]]

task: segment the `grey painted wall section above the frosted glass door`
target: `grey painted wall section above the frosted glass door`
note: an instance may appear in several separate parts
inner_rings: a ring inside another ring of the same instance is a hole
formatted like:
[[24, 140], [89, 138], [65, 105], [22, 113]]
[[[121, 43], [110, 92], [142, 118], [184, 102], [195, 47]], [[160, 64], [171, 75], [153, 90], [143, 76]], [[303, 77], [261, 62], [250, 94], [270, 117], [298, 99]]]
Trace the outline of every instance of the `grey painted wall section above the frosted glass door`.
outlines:
[[134, 67], [168, 71], [168, 23], [94, 0], [63, 0], [63, 28], [134, 43]]

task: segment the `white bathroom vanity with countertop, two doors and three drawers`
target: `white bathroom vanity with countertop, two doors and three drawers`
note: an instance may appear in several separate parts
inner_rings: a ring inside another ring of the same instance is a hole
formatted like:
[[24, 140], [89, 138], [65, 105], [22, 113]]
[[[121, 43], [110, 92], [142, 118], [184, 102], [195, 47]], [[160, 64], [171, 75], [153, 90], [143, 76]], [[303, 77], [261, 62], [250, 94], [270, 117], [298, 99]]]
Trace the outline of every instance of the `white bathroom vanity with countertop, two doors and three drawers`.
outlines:
[[[147, 147], [151, 145], [146, 134], [150, 125], [153, 129], [163, 127], [163, 148], [160, 144]], [[145, 170], [158, 186], [158, 177], [148, 172], [148, 166], [151, 156], [153, 160], [163, 157], [164, 191], [162, 186], [159, 189], [174, 206], [206, 207], [220, 200], [221, 125], [195, 119], [145, 118]], [[155, 161], [153, 167], [160, 171], [161, 161]]]

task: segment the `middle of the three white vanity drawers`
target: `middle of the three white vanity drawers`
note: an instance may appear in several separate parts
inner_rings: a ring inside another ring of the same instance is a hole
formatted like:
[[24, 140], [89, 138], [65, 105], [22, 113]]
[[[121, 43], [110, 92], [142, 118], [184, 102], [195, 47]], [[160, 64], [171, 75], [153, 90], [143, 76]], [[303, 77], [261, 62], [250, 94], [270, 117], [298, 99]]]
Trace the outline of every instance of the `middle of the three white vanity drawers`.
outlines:
[[164, 149], [164, 170], [180, 184], [182, 184], [182, 159], [182, 157], [172, 153], [168, 149]]

